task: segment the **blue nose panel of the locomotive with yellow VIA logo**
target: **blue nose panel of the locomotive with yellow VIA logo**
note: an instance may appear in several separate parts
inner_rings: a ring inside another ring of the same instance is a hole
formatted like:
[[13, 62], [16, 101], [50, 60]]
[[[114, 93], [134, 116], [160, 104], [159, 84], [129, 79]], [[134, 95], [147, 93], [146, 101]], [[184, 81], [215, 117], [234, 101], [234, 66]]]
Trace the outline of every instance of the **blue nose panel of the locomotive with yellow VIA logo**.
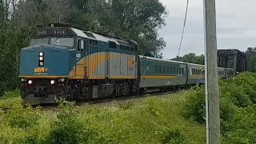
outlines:
[[21, 52], [20, 76], [67, 77], [70, 50], [62, 46], [40, 45]]

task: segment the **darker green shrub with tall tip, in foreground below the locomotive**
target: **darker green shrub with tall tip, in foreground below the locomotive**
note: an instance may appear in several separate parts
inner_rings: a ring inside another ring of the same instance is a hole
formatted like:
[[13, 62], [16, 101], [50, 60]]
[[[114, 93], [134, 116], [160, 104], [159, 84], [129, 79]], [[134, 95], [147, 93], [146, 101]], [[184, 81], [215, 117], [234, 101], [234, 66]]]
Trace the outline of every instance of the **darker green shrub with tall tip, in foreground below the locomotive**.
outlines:
[[50, 143], [104, 143], [105, 139], [79, 121], [74, 103], [62, 101], [58, 109], [58, 120], [53, 123]]

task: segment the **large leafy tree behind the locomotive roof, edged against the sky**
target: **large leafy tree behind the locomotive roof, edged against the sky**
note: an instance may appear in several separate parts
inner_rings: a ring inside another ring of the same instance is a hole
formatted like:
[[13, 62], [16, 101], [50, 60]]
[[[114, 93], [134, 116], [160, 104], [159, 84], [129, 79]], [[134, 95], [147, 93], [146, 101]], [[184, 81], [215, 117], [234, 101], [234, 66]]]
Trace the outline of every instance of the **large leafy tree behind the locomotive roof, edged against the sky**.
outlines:
[[[72, 23], [82, 29], [97, 31], [138, 42], [139, 54], [158, 57], [166, 42], [158, 38], [165, 24], [166, 8], [159, 0], [74, 0], [77, 11]], [[161, 54], [160, 54], [161, 55]]]

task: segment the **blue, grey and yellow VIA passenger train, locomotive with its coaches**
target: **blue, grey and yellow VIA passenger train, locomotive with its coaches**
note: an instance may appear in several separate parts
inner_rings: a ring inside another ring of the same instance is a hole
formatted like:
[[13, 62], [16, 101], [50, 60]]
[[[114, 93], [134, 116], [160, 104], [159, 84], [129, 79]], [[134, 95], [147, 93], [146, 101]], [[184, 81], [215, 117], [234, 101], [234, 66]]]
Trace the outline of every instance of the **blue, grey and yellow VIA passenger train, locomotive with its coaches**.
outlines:
[[[219, 68], [220, 77], [234, 75]], [[138, 44], [69, 26], [38, 27], [21, 51], [22, 98], [79, 101], [204, 83], [204, 66], [138, 55]]]

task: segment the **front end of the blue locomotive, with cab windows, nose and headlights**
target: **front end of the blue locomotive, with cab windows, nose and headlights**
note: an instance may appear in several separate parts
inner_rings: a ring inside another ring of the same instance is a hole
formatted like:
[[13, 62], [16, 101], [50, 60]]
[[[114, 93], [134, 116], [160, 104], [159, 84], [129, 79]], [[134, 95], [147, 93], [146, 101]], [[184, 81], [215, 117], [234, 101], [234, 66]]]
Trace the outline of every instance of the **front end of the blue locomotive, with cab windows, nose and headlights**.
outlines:
[[68, 27], [34, 30], [30, 46], [20, 54], [22, 98], [29, 103], [38, 103], [38, 98], [54, 103], [56, 96], [65, 93], [70, 70], [85, 56], [86, 46]]

